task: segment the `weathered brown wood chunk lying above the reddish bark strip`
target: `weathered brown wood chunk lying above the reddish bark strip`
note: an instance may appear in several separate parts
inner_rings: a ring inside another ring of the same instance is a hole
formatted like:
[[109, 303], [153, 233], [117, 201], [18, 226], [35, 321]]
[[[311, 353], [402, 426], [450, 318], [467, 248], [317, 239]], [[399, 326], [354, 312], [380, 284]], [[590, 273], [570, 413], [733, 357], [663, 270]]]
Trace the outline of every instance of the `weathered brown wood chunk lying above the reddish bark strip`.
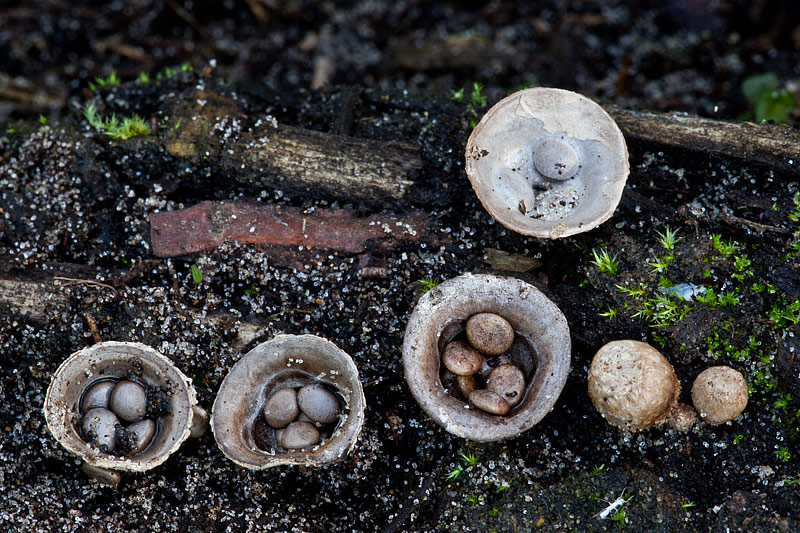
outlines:
[[176, 157], [211, 164], [248, 189], [274, 188], [315, 198], [399, 208], [411, 198], [422, 159], [411, 145], [256, 121], [240, 129], [236, 102], [195, 91], [173, 111], [165, 140]]

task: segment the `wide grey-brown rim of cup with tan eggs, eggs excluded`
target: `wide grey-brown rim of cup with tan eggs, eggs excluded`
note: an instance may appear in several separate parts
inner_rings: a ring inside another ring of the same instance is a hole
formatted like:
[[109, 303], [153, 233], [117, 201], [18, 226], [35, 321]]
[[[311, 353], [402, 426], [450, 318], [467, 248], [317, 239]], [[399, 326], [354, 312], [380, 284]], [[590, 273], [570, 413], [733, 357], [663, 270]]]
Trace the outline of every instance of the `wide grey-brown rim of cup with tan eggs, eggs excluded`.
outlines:
[[[440, 377], [442, 347], [477, 313], [505, 318], [532, 358], [524, 396], [506, 415], [449, 394]], [[515, 437], [539, 422], [561, 394], [569, 366], [566, 318], [538, 289], [515, 278], [464, 274], [439, 284], [419, 299], [403, 341], [406, 382], [422, 409], [450, 433], [478, 442]]]

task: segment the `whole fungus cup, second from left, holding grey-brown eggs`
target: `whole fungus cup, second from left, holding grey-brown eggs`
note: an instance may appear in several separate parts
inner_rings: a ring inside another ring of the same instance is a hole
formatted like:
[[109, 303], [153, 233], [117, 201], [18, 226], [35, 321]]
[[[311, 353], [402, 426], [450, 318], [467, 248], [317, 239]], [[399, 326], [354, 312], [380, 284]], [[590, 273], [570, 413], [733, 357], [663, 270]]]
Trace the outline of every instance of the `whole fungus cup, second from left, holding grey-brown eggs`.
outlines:
[[245, 354], [211, 413], [222, 453], [254, 470], [337, 461], [353, 449], [363, 422], [355, 363], [314, 335], [279, 335]]

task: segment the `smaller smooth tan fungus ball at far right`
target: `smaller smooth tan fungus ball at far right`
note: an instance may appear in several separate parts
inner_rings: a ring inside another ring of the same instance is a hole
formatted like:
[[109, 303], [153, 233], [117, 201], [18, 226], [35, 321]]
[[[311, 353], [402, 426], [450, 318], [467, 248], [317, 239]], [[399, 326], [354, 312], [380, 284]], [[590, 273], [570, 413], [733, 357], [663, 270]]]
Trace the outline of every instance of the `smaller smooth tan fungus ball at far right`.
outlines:
[[712, 366], [694, 380], [692, 402], [705, 422], [724, 424], [747, 406], [747, 382], [729, 366]]

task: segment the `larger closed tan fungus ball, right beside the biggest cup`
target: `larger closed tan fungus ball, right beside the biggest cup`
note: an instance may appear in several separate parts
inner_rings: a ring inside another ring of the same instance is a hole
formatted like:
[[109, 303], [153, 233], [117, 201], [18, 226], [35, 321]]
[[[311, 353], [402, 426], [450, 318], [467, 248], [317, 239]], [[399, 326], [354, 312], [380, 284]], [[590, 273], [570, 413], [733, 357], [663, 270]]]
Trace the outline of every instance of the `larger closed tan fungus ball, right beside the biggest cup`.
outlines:
[[672, 365], [644, 342], [609, 342], [597, 351], [589, 367], [592, 403], [610, 424], [623, 431], [665, 422], [679, 393]]

